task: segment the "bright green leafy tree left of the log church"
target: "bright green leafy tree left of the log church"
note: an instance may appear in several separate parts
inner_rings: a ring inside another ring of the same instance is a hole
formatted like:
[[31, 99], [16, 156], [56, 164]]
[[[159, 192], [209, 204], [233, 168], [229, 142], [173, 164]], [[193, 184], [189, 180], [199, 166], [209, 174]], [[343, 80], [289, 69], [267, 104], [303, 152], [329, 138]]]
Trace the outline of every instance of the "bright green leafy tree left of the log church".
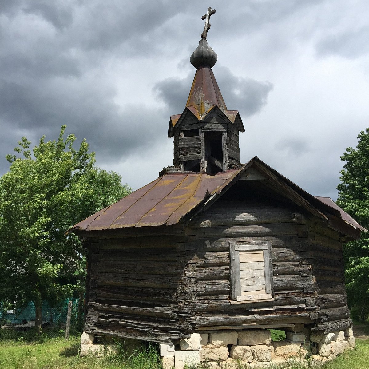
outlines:
[[0, 178], [0, 300], [24, 308], [33, 301], [41, 329], [43, 302], [54, 304], [81, 289], [85, 259], [79, 239], [64, 232], [73, 224], [131, 192], [121, 177], [94, 166], [83, 140], [31, 142], [23, 137], [7, 155], [9, 172]]

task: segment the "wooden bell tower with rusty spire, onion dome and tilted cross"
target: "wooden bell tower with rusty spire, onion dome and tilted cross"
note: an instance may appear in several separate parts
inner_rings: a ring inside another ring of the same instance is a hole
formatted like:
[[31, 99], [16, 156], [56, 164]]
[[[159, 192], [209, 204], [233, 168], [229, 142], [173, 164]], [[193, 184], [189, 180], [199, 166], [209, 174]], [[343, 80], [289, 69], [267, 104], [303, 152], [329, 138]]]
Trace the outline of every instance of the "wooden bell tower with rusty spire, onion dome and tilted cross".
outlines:
[[[199, 46], [190, 57], [196, 68], [186, 107], [172, 115], [168, 137], [174, 138], [174, 170], [181, 172], [222, 172], [239, 165], [239, 132], [244, 125], [237, 110], [227, 110], [211, 68], [217, 54], [207, 43], [209, 19], [215, 9], [208, 8]], [[177, 168], [177, 169], [175, 169]], [[171, 170], [173, 170], [171, 169]]]

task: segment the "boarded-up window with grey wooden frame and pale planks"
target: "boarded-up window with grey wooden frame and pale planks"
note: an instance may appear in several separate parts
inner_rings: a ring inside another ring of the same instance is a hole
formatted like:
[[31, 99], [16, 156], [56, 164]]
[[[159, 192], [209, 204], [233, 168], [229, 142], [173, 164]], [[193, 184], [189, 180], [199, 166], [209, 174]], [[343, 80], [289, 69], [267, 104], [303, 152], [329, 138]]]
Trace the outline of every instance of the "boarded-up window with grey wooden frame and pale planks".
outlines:
[[270, 241], [230, 242], [231, 299], [271, 300], [273, 269]]

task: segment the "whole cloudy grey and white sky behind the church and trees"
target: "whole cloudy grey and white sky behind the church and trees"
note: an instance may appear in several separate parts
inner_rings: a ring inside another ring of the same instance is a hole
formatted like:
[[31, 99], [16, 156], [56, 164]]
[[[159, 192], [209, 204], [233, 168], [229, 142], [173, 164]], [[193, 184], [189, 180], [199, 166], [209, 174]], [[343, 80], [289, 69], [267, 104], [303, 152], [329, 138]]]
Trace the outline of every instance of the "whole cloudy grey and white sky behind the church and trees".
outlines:
[[0, 175], [26, 136], [63, 124], [134, 189], [173, 162], [207, 8], [215, 78], [257, 155], [336, 199], [346, 147], [369, 126], [367, 0], [1, 0]]

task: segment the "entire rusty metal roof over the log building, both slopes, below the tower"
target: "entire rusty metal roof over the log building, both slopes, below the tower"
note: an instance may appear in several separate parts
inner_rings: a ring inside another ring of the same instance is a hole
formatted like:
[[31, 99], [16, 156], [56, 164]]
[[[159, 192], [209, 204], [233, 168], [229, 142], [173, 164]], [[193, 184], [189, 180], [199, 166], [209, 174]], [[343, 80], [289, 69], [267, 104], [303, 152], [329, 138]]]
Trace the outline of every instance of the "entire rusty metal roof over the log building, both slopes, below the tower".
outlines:
[[325, 214], [329, 212], [352, 227], [366, 231], [331, 199], [308, 194], [255, 156], [242, 168], [214, 175], [194, 172], [167, 173], [74, 225], [67, 232], [176, 224], [195, 208], [216, 201], [250, 167], [261, 171], [276, 188], [282, 189], [284, 196], [299, 203], [311, 213], [328, 219]]

